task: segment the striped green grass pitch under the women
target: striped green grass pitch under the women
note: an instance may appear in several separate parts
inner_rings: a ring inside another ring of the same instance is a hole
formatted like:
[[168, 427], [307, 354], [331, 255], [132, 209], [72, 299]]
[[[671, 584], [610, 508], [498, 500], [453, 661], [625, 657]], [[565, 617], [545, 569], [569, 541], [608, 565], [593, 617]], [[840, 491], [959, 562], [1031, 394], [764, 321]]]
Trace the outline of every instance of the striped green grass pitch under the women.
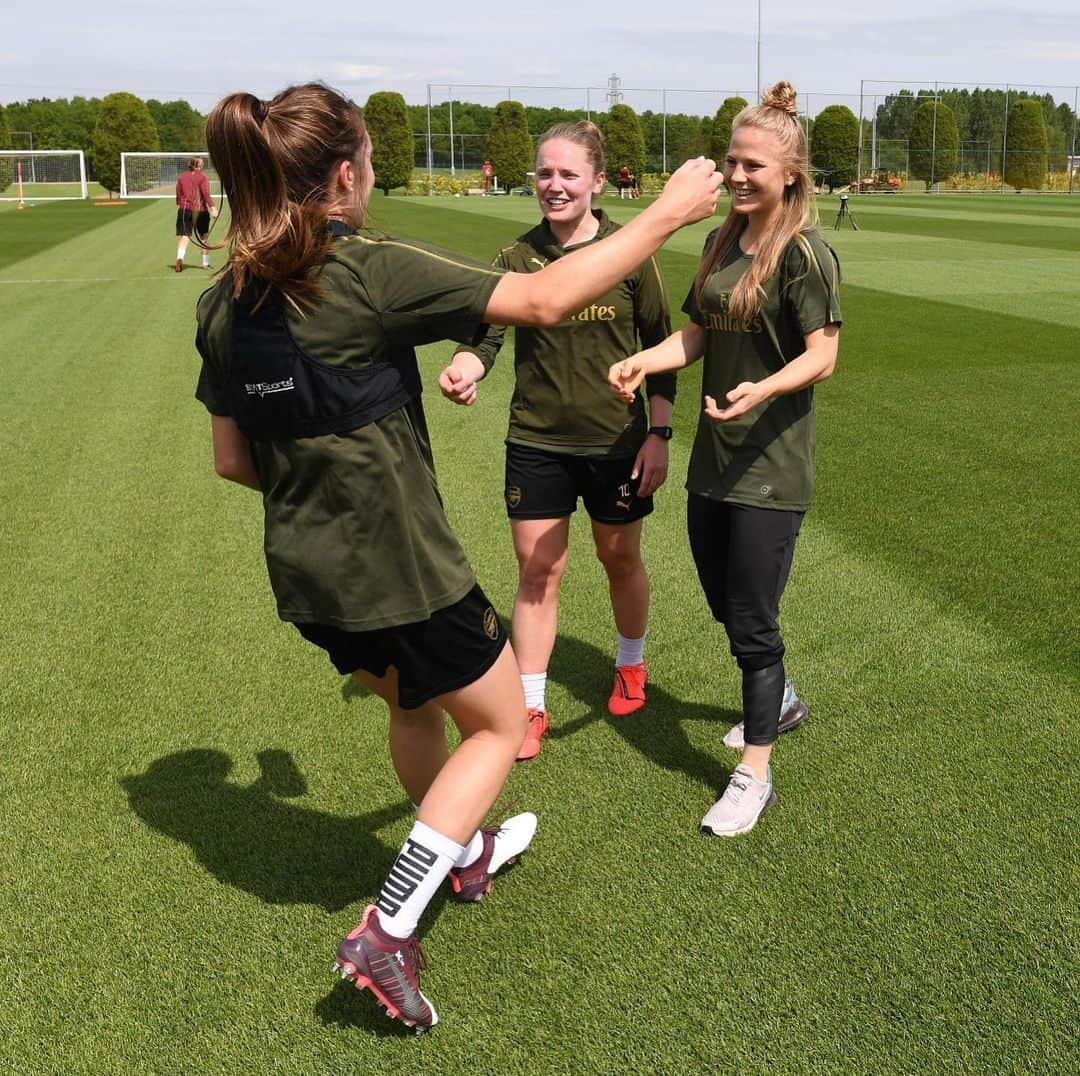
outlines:
[[[640, 203], [608, 201], [616, 218]], [[649, 704], [576, 519], [541, 828], [489, 901], [436, 901], [416, 1039], [327, 973], [409, 825], [381, 704], [276, 621], [260, 507], [192, 399], [173, 209], [0, 214], [0, 1055], [14, 1073], [1067, 1072], [1077, 1066], [1080, 200], [853, 200], [783, 623], [811, 717], [748, 836], [697, 822], [739, 681], [681, 476], [645, 526]], [[376, 196], [488, 258], [519, 198]], [[681, 302], [707, 227], [662, 255]], [[189, 257], [193, 264], [198, 257]], [[676, 323], [681, 320], [676, 313]], [[512, 362], [427, 407], [451, 522], [509, 613]], [[581, 513], [579, 513], [580, 516]]]

